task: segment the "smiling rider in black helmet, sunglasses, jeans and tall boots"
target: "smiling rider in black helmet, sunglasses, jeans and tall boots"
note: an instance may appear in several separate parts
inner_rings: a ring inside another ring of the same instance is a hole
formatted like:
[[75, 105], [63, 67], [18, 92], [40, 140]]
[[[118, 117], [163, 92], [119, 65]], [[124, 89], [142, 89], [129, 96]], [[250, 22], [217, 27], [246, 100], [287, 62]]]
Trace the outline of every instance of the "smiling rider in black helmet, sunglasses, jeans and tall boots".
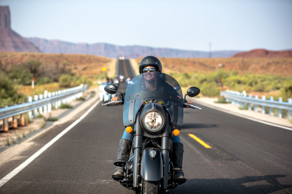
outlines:
[[[158, 58], [154, 56], [146, 56], [143, 58], [139, 65], [139, 72], [145, 73], [144, 79], [145, 79], [145, 85], [141, 86], [141, 91], [145, 90], [157, 90], [157, 91], [171, 91], [169, 93], [173, 93], [177, 95], [181, 100], [183, 100], [183, 97], [179, 96], [178, 93], [167, 83], [160, 81], [157, 79], [151, 72], [161, 72], [162, 71], [162, 65]], [[118, 97], [113, 97], [111, 101], [117, 101]], [[193, 104], [190, 100], [187, 100], [188, 104]], [[186, 106], [185, 108], [190, 108]], [[118, 148], [118, 155], [117, 155], [117, 161], [128, 161], [131, 147], [132, 147], [132, 140], [133, 136], [128, 133], [126, 130], [124, 131], [124, 134], [119, 142], [119, 148]], [[183, 174], [183, 144], [180, 142], [180, 137], [173, 136], [172, 138], [173, 143], [173, 154], [171, 155], [171, 161], [173, 162], [174, 168], [180, 168], [181, 170], [178, 170], [175, 172], [174, 177], [185, 179]], [[117, 166], [117, 168], [114, 171], [114, 175], [124, 175], [124, 168]]]

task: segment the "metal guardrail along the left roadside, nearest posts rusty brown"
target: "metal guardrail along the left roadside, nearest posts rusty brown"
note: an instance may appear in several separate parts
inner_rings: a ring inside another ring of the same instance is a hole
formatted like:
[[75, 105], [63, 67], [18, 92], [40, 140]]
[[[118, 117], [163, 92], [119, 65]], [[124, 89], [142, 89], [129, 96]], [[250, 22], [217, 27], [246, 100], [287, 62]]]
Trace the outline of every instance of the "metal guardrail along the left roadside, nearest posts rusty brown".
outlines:
[[55, 92], [45, 91], [44, 95], [35, 95], [34, 101], [32, 101], [32, 97], [28, 97], [27, 103], [0, 108], [0, 120], [3, 120], [2, 130], [8, 130], [8, 118], [13, 118], [13, 127], [17, 128], [18, 115], [20, 115], [21, 125], [24, 125], [24, 113], [28, 113], [28, 118], [31, 120], [32, 116], [33, 118], [37, 117], [37, 113], [46, 114], [47, 112], [51, 112], [52, 105], [55, 106], [55, 108], [58, 108], [60, 104], [66, 104], [72, 102], [78, 97], [82, 97], [82, 92], [86, 89], [88, 89], [88, 85], [86, 84], [83, 86], [83, 84], [81, 84], [77, 87], [58, 90]]

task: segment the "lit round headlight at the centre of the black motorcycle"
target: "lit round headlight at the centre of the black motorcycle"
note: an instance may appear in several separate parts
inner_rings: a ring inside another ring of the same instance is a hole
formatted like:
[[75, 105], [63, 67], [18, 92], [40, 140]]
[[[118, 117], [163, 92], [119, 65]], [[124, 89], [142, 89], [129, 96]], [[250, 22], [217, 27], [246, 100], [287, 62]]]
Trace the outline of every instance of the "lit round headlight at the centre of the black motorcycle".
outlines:
[[143, 117], [143, 123], [146, 129], [157, 131], [163, 126], [163, 116], [156, 111], [150, 111]]

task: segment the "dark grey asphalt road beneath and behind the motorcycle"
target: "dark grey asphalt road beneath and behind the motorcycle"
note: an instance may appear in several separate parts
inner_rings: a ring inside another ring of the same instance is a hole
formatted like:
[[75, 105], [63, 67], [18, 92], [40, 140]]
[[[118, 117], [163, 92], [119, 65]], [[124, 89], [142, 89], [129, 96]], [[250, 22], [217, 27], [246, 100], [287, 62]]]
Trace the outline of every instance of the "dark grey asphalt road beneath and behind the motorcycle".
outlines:
[[[119, 61], [119, 74], [129, 70], [127, 64]], [[292, 131], [200, 107], [202, 111], [185, 109], [180, 131], [187, 182], [168, 193], [292, 193]], [[0, 193], [134, 193], [111, 177], [124, 131], [122, 109], [98, 104], [1, 186]], [[0, 179], [82, 114], [39, 136], [29, 149], [0, 166]]]

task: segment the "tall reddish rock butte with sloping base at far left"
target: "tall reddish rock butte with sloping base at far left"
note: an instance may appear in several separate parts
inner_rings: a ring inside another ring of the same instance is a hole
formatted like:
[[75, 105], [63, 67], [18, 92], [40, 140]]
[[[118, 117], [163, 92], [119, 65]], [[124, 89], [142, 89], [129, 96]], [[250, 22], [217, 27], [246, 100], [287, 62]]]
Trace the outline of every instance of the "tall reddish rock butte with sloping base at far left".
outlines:
[[0, 6], [0, 52], [39, 52], [29, 40], [11, 29], [11, 17], [8, 6]]

